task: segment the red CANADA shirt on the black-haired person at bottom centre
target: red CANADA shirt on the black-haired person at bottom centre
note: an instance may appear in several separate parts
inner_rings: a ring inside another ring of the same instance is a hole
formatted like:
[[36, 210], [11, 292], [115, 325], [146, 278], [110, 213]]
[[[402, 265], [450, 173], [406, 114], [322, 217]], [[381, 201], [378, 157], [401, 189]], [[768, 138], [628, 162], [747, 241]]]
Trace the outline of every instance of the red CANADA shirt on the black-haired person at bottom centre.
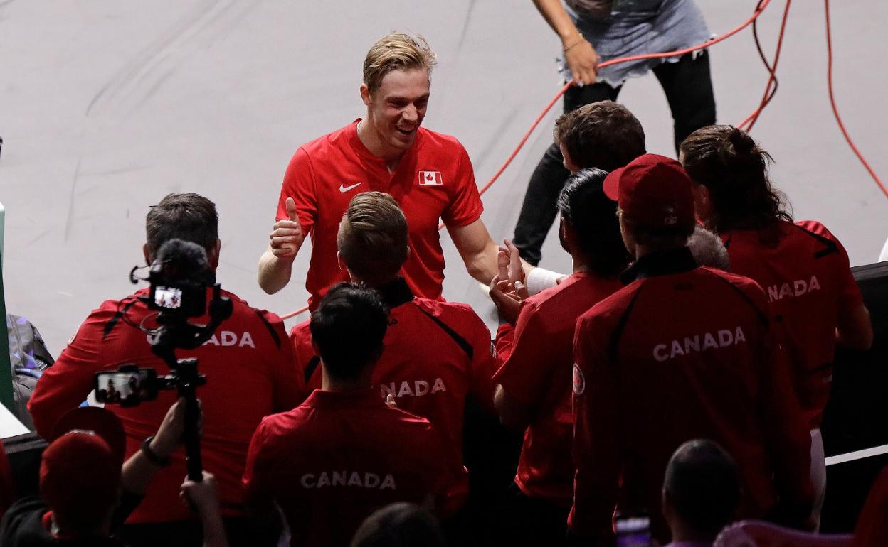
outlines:
[[315, 390], [262, 420], [243, 482], [249, 499], [281, 507], [291, 545], [347, 545], [380, 507], [440, 498], [456, 459], [427, 419], [386, 407], [375, 390]]

